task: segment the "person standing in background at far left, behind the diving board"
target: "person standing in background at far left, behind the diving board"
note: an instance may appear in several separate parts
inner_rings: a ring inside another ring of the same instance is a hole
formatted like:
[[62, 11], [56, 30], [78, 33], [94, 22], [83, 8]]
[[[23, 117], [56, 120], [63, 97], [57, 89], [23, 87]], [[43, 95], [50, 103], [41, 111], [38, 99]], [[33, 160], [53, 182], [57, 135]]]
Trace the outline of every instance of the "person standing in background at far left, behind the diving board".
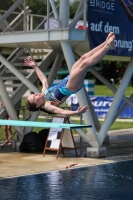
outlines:
[[[2, 106], [2, 102], [0, 102], [0, 106]], [[4, 119], [10, 120], [9, 115], [7, 114]], [[12, 135], [12, 129], [11, 126], [4, 126], [4, 135], [5, 135], [5, 140], [9, 139], [9, 136]], [[12, 140], [9, 140], [8, 145], [12, 144]]]

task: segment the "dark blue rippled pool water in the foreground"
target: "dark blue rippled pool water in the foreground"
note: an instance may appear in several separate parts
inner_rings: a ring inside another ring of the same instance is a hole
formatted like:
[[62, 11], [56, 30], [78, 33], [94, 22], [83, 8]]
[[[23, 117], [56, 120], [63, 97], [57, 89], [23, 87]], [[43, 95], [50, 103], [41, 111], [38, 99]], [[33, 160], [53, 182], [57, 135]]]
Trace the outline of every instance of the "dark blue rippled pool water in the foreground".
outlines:
[[1, 200], [133, 200], [133, 160], [0, 179]]

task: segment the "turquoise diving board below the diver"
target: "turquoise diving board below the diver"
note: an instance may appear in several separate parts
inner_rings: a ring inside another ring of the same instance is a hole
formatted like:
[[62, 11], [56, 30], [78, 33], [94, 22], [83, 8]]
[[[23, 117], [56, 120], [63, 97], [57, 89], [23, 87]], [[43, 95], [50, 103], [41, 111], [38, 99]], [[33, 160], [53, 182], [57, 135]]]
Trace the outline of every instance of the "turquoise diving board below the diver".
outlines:
[[21, 120], [5, 120], [0, 119], [0, 125], [6, 126], [30, 126], [30, 127], [46, 127], [46, 128], [64, 128], [64, 129], [81, 129], [91, 128], [91, 125], [83, 124], [62, 124], [50, 122], [21, 121]]

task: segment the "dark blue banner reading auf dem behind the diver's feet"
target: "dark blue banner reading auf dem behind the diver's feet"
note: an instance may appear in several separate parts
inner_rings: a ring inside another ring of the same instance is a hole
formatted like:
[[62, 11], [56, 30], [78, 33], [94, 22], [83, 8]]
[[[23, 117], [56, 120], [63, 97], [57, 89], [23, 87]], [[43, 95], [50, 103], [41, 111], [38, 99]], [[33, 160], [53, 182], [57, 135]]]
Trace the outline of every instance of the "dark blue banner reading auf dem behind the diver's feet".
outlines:
[[[89, 0], [88, 27], [90, 48], [115, 33], [115, 51], [108, 55], [133, 56], [133, 6], [128, 0]], [[125, 2], [125, 3], [123, 3]], [[133, 4], [133, 3], [132, 3]]]

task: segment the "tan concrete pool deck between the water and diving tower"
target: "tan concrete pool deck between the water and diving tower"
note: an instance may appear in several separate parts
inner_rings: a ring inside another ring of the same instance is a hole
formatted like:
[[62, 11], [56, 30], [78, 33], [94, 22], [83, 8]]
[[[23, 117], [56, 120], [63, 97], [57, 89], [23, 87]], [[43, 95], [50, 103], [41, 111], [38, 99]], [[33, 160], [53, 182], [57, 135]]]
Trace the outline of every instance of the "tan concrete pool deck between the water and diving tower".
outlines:
[[[5, 146], [0, 150], [0, 178], [63, 170], [76, 163], [75, 167], [85, 167], [133, 159], [133, 129], [109, 131], [108, 135], [109, 143], [103, 144], [107, 148], [107, 157], [100, 159], [76, 157], [74, 150], [65, 151], [65, 156], [60, 153], [56, 159], [53, 151], [46, 152], [43, 157], [42, 153], [20, 153], [12, 145]], [[74, 140], [80, 155], [80, 137], [75, 135]], [[86, 152], [88, 146], [83, 141], [82, 152]]]

